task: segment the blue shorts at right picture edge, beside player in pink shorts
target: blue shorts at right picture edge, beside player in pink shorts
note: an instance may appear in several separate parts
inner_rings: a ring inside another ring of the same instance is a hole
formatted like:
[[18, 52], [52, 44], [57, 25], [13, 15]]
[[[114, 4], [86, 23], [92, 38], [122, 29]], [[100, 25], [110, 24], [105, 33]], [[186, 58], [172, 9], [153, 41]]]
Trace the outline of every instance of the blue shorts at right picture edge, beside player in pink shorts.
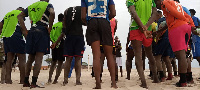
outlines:
[[200, 42], [199, 41], [192, 43], [192, 53], [193, 53], [194, 59], [197, 59], [197, 57], [200, 57]]

